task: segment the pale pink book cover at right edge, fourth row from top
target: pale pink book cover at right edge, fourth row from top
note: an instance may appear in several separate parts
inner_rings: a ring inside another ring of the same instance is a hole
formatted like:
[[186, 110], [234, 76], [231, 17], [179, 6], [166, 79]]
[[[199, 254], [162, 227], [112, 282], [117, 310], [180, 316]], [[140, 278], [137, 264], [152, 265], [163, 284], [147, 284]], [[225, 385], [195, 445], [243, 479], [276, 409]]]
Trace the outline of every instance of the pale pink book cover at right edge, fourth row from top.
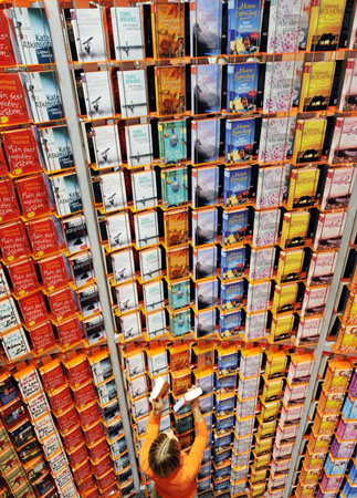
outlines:
[[322, 209], [333, 210], [348, 206], [355, 177], [354, 166], [328, 168], [321, 201]]

